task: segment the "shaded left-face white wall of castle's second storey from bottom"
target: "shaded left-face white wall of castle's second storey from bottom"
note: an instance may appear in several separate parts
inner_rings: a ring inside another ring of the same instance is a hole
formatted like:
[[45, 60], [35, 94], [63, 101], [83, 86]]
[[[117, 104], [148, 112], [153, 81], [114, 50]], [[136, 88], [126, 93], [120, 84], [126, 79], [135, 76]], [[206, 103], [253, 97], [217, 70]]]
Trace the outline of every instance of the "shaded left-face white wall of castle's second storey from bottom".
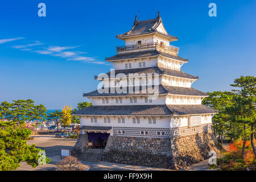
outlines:
[[[92, 98], [92, 105], [164, 105], [166, 98], [165, 96], [159, 96], [157, 99], [152, 100], [152, 103], [145, 102], [146, 97], [136, 97], [137, 98], [137, 103], [130, 103], [130, 98], [135, 98], [135, 97], [122, 97], [122, 104], [118, 104], [115, 102], [116, 97], [109, 97], [109, 104], [102, 104], [102, 98]], [[120, 97], [121, 98], [121, 97]]]

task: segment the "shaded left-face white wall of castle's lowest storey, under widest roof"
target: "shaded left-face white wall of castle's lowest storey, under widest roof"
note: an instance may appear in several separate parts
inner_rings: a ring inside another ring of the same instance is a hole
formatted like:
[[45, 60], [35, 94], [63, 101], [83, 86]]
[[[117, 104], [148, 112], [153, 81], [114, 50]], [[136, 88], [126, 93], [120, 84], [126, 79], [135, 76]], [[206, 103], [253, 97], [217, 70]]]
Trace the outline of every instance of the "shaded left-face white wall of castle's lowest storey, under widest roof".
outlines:
[[[170, 127], [170, 118], [157, 117], [156, 124], [148, 124], [148, 118], [140, 118], [140, 123], [133, 123], [133, 117], [125, 118], [125, 123], [118, 123], [118, 117], [109, 117], [110, 123], [104, 123], [104, 117], [97, 117], [97, 123], [92, 123], [90, 117], [81, 117], [81, 126], [118, 126], [118, 127]], [[122, 121], [121, 121], [122, 122]], [[137, 122], [137, 120], [136, 120]]]

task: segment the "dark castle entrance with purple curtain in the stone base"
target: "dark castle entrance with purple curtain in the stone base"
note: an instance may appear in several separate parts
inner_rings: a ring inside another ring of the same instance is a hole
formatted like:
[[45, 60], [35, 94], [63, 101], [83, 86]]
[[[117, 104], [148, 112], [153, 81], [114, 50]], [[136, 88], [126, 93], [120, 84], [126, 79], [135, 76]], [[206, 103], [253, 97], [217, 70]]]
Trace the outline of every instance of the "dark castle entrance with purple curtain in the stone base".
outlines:
[[109, 133], [88, 133], [88, 148], [102, 148], [106, 147]]

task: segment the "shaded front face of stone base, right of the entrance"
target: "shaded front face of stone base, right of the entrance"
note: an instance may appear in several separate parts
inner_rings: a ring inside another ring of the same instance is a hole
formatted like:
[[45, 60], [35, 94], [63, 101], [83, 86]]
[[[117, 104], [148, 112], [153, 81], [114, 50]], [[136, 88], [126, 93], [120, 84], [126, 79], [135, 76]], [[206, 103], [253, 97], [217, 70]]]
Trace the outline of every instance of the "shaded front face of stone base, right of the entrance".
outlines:
[[174, 164], [170, 138], [112, 136], [109, 142], [104, 153], [108, 162], [160, 168]]

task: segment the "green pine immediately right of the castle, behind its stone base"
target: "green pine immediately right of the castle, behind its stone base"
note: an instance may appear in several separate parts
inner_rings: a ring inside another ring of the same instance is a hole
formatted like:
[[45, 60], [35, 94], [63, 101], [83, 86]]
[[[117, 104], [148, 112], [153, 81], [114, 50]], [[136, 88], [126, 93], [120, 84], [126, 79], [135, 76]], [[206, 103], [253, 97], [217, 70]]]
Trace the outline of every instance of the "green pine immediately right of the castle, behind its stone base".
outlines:
[[203, 104], [212, 109], [218, 110], [218, 114], [213, 116], [213, 133], [222, 145], [222, 140], [224, 135], [230, 137], [229, 128], [230, 128], [230, 118], [226, 113], [225, 108], [232, 105], [232, 92], [221, 92], [216, 91], [208, 93], [209, 97], [204, 98]]

